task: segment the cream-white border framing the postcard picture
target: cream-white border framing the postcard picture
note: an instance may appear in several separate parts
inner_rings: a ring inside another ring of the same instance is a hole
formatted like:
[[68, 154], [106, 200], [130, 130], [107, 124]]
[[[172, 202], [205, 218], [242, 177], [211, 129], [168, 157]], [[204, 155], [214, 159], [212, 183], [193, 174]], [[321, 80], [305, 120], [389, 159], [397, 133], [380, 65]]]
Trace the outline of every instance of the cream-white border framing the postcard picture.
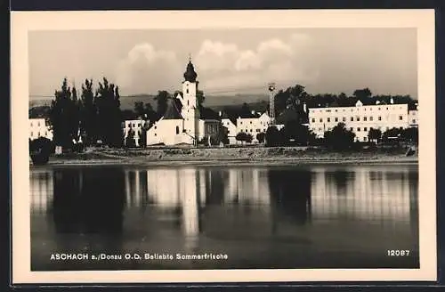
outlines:
[[[11, 20], [14, 284], [436, 280], [433, 10], [12, 12]], [[30, 272], [28, 137], [20, 134], [28, 125], [28, 31], [150, 28], [417, 28], [420, 269]]]

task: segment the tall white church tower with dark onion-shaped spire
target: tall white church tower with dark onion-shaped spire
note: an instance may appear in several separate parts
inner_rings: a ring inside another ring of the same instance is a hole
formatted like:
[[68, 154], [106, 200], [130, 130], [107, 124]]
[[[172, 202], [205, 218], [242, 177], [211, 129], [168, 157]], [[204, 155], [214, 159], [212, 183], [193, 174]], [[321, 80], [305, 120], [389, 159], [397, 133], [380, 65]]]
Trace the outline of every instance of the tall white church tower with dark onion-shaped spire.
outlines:
[[184, 131], [193, 137], [195, 144], [199, 139], [199, 107], [198, 107], [198, 74], [191, 63], [187, 64], [182, 82], [182, 118], [184, 118]]

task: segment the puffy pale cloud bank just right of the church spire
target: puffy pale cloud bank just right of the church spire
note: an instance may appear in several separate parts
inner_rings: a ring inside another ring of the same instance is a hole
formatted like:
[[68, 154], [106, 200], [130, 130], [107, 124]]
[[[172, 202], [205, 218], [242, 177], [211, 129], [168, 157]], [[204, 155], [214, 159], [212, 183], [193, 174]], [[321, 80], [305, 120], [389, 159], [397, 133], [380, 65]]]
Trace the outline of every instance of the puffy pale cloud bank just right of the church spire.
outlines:
[[208, 91], [263, 86], [271, 81], [291, 85], [317, 76], [303, 62], [310, 44], [309, 37], [297, 34], [267, 39], [247, 49], [207, 39], [194, 60], [201, 84]]

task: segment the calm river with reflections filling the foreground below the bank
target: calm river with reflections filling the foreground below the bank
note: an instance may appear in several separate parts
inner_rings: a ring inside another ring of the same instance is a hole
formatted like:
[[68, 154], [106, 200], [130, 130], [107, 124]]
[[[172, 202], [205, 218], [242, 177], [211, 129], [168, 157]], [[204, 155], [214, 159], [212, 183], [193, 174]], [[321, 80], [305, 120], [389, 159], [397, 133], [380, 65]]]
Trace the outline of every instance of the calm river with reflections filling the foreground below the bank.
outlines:
[[42, 166], [29, 182], [32, 271], [419, 266], [417, 165]]

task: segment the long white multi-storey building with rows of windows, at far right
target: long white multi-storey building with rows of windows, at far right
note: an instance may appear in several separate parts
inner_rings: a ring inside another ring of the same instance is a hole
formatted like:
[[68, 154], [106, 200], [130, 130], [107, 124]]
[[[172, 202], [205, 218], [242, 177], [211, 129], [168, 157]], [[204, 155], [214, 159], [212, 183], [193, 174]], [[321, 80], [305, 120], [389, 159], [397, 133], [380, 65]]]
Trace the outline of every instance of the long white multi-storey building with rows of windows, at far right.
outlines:
[[310, 129], [319, 138], [323, 138], [325, 132], [338, 123], [344, 123], [356, 135], [356, 141], [367, 142], [371, 128], [384, 133], [393, 127], [409, 127], [408, 104], [364, 105], [357, 101], [354, 107], [309, 109]]

